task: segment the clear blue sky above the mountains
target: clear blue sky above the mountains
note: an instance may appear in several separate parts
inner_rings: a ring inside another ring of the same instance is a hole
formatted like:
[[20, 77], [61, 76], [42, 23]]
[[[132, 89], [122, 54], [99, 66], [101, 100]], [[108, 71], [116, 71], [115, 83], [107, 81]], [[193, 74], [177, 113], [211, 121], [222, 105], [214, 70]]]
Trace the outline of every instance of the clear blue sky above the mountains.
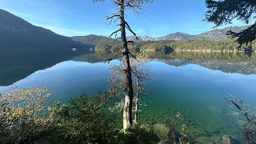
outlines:
[[[0, 0], [0, 9], [66, 36], [98, 34], [109, 36], [118, 27], [108, 25], [106, 16], [115, 13], [111, 0]], [[205, 0], [154, 0], [142, 14], [127, 11], [127, 22], [138, 35], [163, 36], [174, 32], [201, 34], [213, 30], [205, 18]], [[234, 21], [233, 25], [244, 26]], [[223, 28], [226, 26], [220, 26]]]

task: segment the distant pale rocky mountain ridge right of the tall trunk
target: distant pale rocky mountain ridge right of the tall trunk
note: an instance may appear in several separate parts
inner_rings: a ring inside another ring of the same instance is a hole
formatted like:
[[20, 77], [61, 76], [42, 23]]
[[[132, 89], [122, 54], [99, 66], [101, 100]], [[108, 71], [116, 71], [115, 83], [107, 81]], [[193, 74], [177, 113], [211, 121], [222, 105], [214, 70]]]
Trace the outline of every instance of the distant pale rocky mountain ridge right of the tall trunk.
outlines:
[[[219, 41], [227, 39], [228, 36], [226, 35], [226, 32], [229, 30], [232, 30], [234, 32], [239, 32], [241, 30], [246, 29], [248, 26], [233, 26], [233, 27], [226, 27], [224, 29], [216, 29], [216, 30], [210, 30], [202, 34], [198, 35], [190, 35], [186, 33], [173, 33], [173, 34], [167, 34], [166, 36], [162, 37], [156, 37], [152, 38], [149, 36], [138, 36], [140, 41], [180, 41], [180, 40], [210, 40], [210, 41]], [[135, 41], [135, 38], [133, 36], [128, 36], [128, 40]]]

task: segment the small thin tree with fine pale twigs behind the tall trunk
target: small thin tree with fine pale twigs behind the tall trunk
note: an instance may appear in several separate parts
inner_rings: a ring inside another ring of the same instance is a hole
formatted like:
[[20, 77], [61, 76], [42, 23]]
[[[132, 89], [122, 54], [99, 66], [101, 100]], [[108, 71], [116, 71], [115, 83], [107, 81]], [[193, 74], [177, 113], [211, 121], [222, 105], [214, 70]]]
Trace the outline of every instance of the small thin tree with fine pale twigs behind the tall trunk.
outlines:
[[[146, 90], [144, 90], [146, 80], [150, 79], [150, 72], [145, 66], [146, 62], [149, 62], [149, 58], [143, 54], [137, 54], [136, 59], [130, 59], [130, 67], [133, 77], [133, 86], [134, 86], [134, 123], [138, 123], [138, 111], [139, 106], [146, 106], [145, 104], [140, 101], [140, 97], [146, 95]], [[125, 88], [125, 74], [123, 74], [124, 66], [123, 64], [120, 65], [113, 65], [110, 66], [110, 70], [113, 71], [114, 76], [109, 78], [110, 84], [110, 93], [114, 96], [120, 98], [118, 102], [114, 103], [114, 106], [110, 106], [109, 110], [111, 112], [120, 112], [123, 107], [124, 99], [122, 95], [124, 93]]]

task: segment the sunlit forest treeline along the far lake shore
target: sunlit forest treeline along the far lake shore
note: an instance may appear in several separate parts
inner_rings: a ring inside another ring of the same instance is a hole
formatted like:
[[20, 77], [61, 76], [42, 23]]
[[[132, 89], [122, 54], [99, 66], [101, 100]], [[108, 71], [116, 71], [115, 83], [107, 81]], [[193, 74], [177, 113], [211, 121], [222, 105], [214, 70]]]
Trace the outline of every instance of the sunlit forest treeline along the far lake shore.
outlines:
[[[253, 47], [256, 43], [253, 43]], [[105, 51], [117, 51], [121, 47], [120, 42], [100, 42], [94, 49]], [[130, 44], [130, 50], [154, 50], [154, 51], [222, 51], [235, 52], [243, 50], [246, 46], [239, 46], [234, 39], [226, 39], [222, 41], [206, 41], [206, 40], [183, 40], [183, 41], [146, 41], [135, 42]]]

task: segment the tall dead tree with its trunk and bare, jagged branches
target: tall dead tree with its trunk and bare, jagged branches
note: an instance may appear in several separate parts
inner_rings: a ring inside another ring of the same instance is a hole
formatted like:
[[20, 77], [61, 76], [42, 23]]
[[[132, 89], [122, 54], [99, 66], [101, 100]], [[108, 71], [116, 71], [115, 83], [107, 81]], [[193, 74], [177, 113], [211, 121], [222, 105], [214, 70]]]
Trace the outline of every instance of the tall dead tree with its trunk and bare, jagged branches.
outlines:
[[[103, 2], [104, 0], [91, 0], [92, 2]], [[142, 10], [142, 6], [144, 3], [151, 2], [151, 0], [112, 0], [114, 4], [118, 8], [118, 13], [112, 14], [111, 16], [107, 17], [106, 19], [111, 22], [120, 21], [118, 24], [119, 29], [115, 30], [112, 34], [110, 34], [110, 37], [112, 35], [115, 35], [117, 37], [118, 32], [121, 33], [121, 39], [122, 39], [122, 50], [118, 51], [117, 54], [114, 55], [113, 58], [110, 58], [110, 60], [114, 59], [118, 54], [122, 54], [122, 60], [123, 64], [125, 66], [125, 69], [123, 72], [126, 75], [126, 82], [125, 82], [125, 98], [124, 98], [124, 106], [123, 106], [123, 129], [126, 130], [129, 126], [132, 125], [132, 100], [134, 95], [133, 90], [133, 82], [132, 82], [132, 72], [130, 69], [130, 55], [133, 56], [130, 51], [128, 50], [128, 42], [126, 40], [126, 30], [129, 30], [130, 33], [134, 34], [134, 37], [138, 39], [137, 35], [134, 33], [134, 31], [130, 28], [128, 22], [126, 22], [125, 18], [125, 10], [130, 9], [134, 10], [134, 12], [140, 12]]]

